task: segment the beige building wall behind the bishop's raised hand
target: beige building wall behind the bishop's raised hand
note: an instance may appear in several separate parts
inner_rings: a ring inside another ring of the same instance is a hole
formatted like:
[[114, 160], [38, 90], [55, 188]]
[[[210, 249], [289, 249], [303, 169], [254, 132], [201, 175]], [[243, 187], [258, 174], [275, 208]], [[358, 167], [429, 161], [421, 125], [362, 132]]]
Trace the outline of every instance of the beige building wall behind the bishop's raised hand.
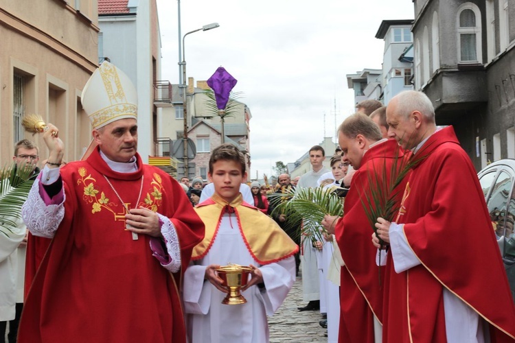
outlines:
[[[91, 141], [80, 93], [98, 66], [96, 1], [82, 3], [84, 16], [63, 1], [4, 1], [0, 8], [0, 161], [7, 163], [14, 145], [14, 75], [22, 75], [24, 112], [56, 124], [65, 142], [65, 161], [82, 155]], [[90, 8], [91, 5], [91, 8]], [[90, 8], [89, 12], [87, 9]], [[80, 132], [77, 134], [76, 132]], [[41, 135], [24, 133], [48, 152]]]

